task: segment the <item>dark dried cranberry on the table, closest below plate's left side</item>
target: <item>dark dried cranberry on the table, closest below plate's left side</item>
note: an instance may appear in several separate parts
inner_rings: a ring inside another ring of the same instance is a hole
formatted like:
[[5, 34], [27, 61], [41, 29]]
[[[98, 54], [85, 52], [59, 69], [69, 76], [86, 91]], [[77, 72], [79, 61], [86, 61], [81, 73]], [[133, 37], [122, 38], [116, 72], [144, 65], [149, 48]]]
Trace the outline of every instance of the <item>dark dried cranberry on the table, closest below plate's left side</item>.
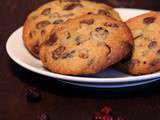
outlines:
[[28, 102], [39, 102], [42, 99], [41, 93], [37, 88], [30, 88], [26, 91]]

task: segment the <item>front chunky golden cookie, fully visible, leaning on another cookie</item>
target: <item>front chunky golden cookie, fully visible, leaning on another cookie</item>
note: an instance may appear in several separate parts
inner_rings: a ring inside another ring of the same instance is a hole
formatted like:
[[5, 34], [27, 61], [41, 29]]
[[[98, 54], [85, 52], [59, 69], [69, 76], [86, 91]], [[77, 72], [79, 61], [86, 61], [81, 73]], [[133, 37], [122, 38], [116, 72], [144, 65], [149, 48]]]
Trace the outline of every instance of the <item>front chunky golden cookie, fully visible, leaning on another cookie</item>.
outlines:
[[70, 19], [53, 30], [40, 47], [48, 70], [70, 75], [95, 74], [117, 63], [132, 48], [125, 23], [105, 15]]

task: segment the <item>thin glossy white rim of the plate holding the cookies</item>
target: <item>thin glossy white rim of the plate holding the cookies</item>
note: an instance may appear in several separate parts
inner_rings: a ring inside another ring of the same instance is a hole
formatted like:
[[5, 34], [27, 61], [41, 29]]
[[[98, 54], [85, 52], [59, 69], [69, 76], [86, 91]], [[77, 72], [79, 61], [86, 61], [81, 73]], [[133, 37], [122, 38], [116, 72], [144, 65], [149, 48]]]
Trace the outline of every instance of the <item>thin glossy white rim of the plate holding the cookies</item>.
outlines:
[[[132, 9], [132, 8], [117, 8], [117, 10], [135, 10], [135, 11], [149, 11], [144, 9]], [[19, 58], [16, 58], [15, 55], [12, 54], [10, 51], [9, 43], [12, 40], [12, 37], [15, 35], [15, 33], [22, 31], [23, 27], [18, 28], [15, 30], [10, 37], [8, 38], [6, 42], [6, 50], [9, 55], [9, 57], [16, 62], [18, 65], [22, 66], [23, 68], [30, 70], [32, 72], [53, 77], [56, 79], [63, 79], [71, 82], [86, 82], [86, 83], [124, 83], [124, 82], [135, 82], [135, 81], [145, 81], [148, 79], [155, 79], [160, 77], [160, 73], [153, 73], [148, 75], [141, 75], [141, 76], [128, 76], [128, 77], [119, 77], [119, 78], [89, 78], [89, 77], [80, 77], [80, 76], [69, 76], [69, 75], [62, 75], [57, 73], [52, 73], [49, 71], [41, 70], [38, 68], [35, 68], [31, 65], [26, 64], [25, 62], [21, 61]]]

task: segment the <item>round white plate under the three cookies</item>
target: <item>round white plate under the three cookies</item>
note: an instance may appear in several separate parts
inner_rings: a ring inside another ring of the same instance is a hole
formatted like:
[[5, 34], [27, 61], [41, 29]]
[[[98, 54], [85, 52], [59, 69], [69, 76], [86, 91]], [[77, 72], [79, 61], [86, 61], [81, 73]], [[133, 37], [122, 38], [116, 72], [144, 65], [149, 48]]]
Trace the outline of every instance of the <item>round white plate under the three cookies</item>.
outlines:
[[[123, 20], [127, 20], [131, 17], [143, 14], [148, 12], [148, 10], [138, 10], [138, 9], [124, 9], [119, 8], [116, 9]], [[108, 85], [123, 85], [123, 84], [135, 84], [138, 82], [146, 82], [149, 79], [155, 79], [160, 77], [160, 73], [154, 73], [149, 75], [142, 75], [142, 76], [130, 76], [125, 73], [108, 69], [101, 73], [90, 75], [90, 76], [67, 76], [61, 75], [56, 73], [51, 73], [42, 67], [42, 63], [34, 58], [24, 47], [23, 40], [22, 40], [22, 29], [23, 27], [16, 30], [8, 39], [6, 44], [7, 53], [12, 60], [14, 60], [17, 64], [21, 65], [22, 67], [33, 71], [38, 74], [42, 74], [45, 76], [58, 78], [59, 80], [63, 80], [69, 83], [81, 83], [81, 84], [105, 84]], [[137, 85], [136, 84], [136, 85]], [[104, 86], [105, 86], [104, 85]]]

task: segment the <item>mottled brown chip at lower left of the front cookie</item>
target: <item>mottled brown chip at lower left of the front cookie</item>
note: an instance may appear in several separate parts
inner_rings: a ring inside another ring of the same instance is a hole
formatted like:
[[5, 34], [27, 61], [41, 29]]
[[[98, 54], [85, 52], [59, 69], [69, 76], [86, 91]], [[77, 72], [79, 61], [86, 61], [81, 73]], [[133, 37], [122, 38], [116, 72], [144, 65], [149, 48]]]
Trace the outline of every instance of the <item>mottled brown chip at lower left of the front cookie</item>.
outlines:
[[62, 53], [64, 52], [65, 47], [64, 46], [60, 46], [58, 47], [56, 50], [54, 50], [52, 52], [52, 58], [57, 60], [58, 58], [60, 58], [60, 56], [62, 55]]

